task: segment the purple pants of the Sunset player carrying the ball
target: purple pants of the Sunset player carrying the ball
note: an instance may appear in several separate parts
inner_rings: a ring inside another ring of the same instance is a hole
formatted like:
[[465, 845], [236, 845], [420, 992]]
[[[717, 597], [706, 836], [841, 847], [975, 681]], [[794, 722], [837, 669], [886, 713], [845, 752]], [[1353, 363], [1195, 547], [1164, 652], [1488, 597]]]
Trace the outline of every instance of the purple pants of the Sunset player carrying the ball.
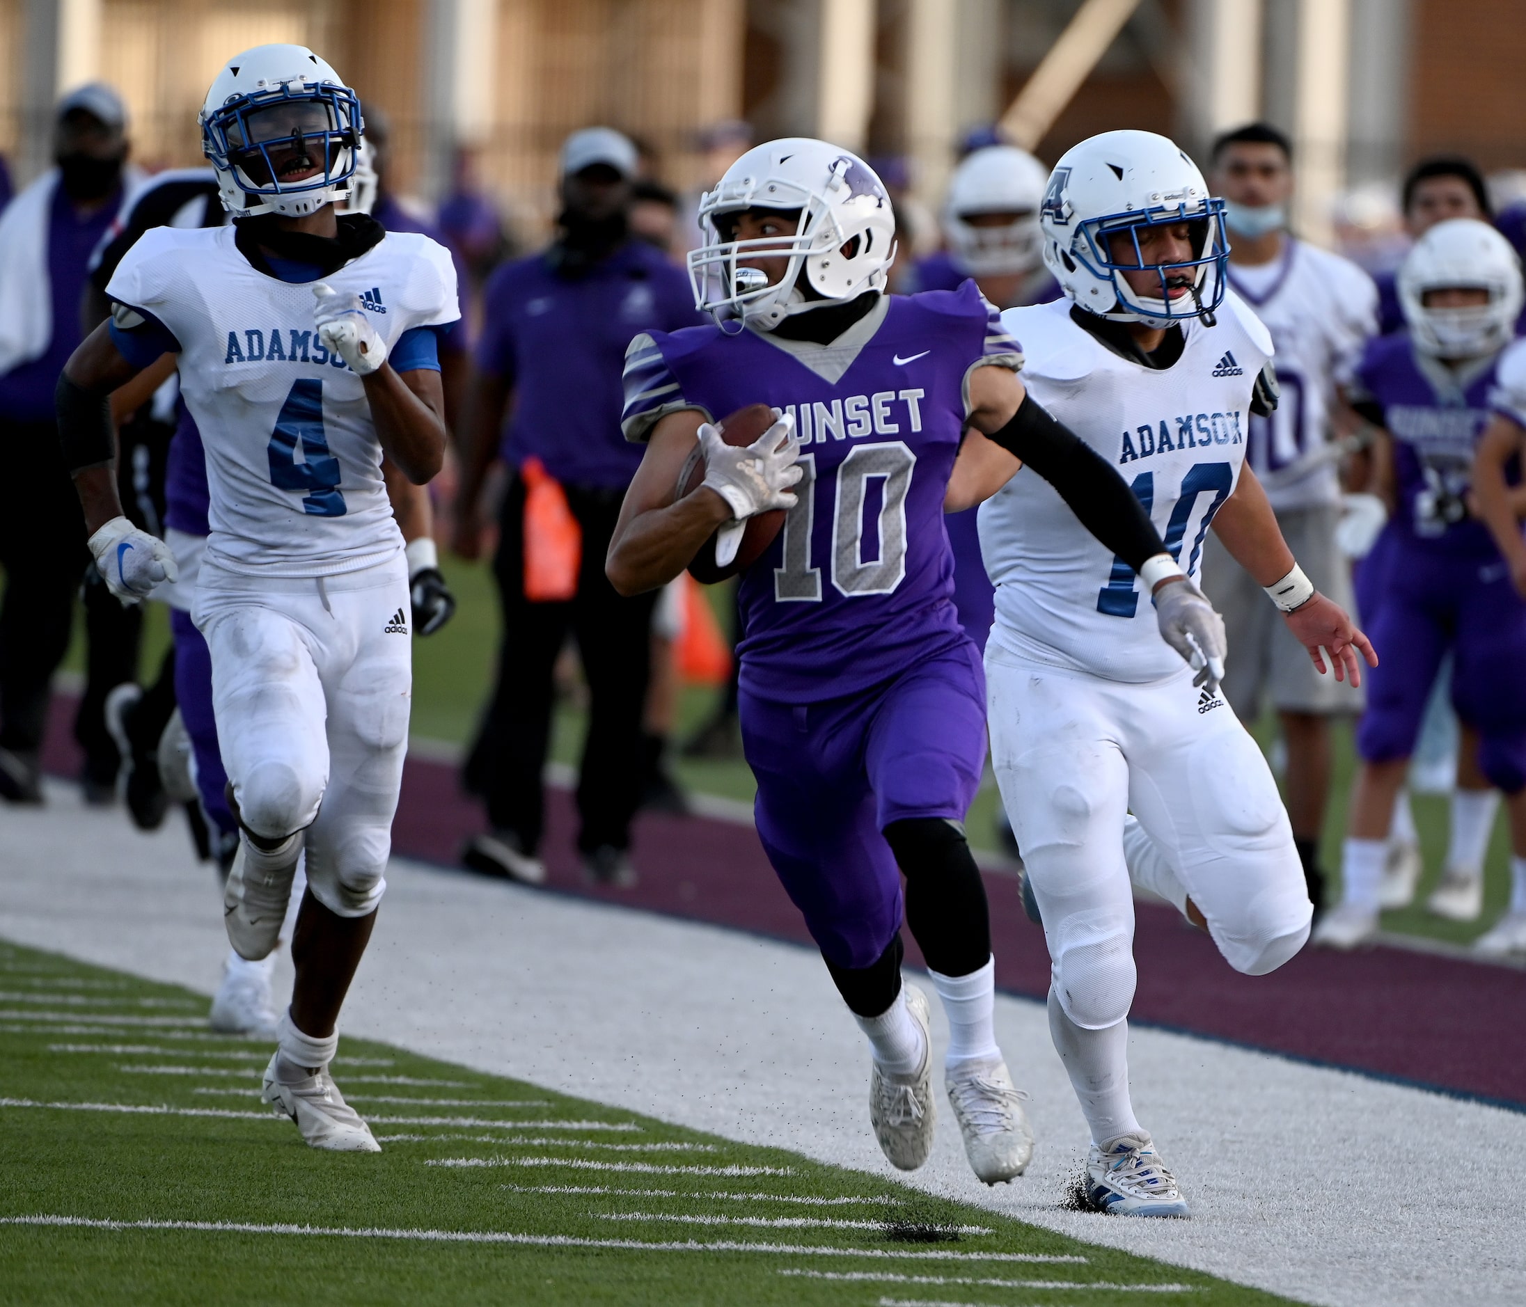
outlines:
[[844, 698], [790, 705], [742, 691], [758, 837], [810, 936], [868, 967], [900, 929], [891, 822], [963, 822], [986, 763], [986, 676], [960, 642]]

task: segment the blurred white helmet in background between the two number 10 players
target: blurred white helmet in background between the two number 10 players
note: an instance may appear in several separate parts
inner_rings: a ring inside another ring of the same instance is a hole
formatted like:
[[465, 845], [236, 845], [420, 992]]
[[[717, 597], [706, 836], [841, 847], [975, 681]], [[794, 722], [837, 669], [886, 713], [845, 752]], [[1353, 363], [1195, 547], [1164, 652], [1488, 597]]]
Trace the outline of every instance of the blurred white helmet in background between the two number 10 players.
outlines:
[[[960, 271], [971, 276], [1025, 273], [1044, 256], [1039, 204], [1048, 174], [1025, 149], [987, 145], [969, 154], [949, 180], [943, 235]], [[981, 214], [1016, 214], [1001, 227], [975, 227]]]

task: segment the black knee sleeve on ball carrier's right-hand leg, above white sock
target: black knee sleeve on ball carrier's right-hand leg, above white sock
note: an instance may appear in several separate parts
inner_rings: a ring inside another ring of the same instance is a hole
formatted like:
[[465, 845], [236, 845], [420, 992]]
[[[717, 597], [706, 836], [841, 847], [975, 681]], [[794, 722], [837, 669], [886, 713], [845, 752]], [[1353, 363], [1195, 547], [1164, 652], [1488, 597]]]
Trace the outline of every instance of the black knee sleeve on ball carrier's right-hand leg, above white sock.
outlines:
[[928, 967], [967, 976], [990, 959], [986, 885], [964, 831], [943, 817], [908, 817], [885, 827], [906, 877], [906, 926]]

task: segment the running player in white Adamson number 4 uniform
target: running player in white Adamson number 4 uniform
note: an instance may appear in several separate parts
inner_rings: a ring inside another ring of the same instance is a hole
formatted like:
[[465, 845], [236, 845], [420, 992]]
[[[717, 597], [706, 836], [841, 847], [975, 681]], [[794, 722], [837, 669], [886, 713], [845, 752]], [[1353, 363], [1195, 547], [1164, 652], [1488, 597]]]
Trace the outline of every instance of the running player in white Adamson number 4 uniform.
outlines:
[[232, 58], [201, 111], [232, 226], [143, 235], [107, 287], [110, 322], [58, 387], [90, 549], [111, 590], [140, 599], [175, 564], [121, 514], [105, 395], [180, 358], [211, 490], [192, 618], [240, 825], [224, 923], [240, 956], [267, 956], [305, 851], [296, 985], [264, 1098], [342, 1151], [378, 1150], [328, 1065], [385, 889], [412, 679], [382, 458], [414, 485], [439, 470], [436, 332], [459, 317], [444, 249], [336, 215], [362, 130], [354, 92], [311, 50]]

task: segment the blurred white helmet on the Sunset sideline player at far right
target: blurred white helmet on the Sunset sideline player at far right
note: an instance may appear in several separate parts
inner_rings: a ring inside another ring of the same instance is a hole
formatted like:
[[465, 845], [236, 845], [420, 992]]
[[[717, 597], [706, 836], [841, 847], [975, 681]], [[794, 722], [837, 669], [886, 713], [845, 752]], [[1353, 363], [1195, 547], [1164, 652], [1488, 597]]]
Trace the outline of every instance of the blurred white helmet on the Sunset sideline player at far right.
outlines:
[[[1427, 308], [1428, 290], [1485, 290], [1488, 303]], [[1503, 349], [1521, 311], [1521, 265], [1511, 242], [1477, 218], [1437, 223], [1405, 255], [1399, 308], [1415, 348], [1437, 358], [1477, 358]]]

